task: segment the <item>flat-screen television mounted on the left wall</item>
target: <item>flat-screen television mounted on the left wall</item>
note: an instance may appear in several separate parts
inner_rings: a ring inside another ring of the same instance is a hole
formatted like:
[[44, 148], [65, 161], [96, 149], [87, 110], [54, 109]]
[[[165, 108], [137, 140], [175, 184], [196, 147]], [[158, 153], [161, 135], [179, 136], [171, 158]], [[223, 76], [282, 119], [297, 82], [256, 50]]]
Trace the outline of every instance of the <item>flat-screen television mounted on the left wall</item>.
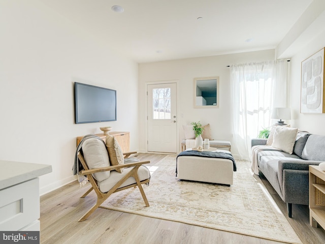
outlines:
[[75, 82], [76, 124], [116, 120], [116, 90]]

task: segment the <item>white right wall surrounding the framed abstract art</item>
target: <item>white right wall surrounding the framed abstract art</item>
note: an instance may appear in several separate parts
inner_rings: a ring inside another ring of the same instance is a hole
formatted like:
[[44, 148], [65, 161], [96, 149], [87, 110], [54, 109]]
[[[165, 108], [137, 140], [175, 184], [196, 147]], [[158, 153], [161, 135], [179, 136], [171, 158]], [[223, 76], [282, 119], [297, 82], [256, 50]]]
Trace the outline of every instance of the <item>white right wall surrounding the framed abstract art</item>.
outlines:
[[290, 107], [293, 110], [290, 124], [292, 127], [307, 130], [310, 133], [325, 135], [325, 114], [300, 113], [301, 62], [325, 47], [325, 31], [306, 42], [291, 58]]

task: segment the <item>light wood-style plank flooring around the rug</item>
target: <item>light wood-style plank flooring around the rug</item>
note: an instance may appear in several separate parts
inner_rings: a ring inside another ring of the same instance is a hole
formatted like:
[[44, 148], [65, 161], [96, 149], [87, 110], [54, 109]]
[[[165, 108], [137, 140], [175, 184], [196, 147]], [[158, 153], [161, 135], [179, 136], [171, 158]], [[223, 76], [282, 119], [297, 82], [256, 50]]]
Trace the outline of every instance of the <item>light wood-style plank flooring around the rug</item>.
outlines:
[[[137, 155], [139, 159], [150, 160], [149, 166], [165, 156], [161, 154]], [[286, 204], [282, 202], [268, 181], [263, 176], [261, 178], [302, 242], [304, 244], [325, 243], [325, 231], [309, 225], [308, 206], [293, 204], [293, 218], [288, 218]], [[86, 221], [78, 222], [79, 218], [95, 203], [96, 196], [93, 192], [86, 198], [80, 198], [87, 189], [79, 188], [78, 182], [75, 181], [41, 196], [42, 244], [282, 243], [104, 208], [96, 209]]]

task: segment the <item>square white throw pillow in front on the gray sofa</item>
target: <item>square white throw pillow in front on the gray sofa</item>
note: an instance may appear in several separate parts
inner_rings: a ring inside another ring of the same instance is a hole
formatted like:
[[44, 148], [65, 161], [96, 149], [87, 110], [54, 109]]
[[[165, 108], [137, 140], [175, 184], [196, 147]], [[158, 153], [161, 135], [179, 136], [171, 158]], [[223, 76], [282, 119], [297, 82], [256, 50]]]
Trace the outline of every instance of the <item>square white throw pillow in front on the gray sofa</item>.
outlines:
[[285, 153], [292, 154], [296, 142], [298, 129], [277, 126], [274, 129], [272, 146]]

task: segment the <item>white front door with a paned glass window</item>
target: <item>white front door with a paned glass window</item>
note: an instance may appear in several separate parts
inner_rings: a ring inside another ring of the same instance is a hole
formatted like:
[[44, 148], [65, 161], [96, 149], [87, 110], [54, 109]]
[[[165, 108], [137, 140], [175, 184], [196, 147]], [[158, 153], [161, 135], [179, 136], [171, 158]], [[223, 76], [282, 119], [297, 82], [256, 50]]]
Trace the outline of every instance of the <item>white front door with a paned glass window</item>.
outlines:
[[149, 84], [148, 151], [177, 153], [176, 83]]

